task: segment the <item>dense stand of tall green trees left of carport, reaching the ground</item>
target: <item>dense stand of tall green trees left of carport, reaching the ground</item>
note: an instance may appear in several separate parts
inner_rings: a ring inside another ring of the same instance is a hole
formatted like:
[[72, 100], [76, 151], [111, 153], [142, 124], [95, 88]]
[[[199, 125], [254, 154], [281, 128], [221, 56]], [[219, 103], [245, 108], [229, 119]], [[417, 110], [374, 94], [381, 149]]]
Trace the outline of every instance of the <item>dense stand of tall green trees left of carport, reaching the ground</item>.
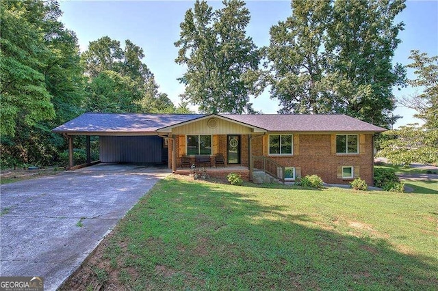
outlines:
[[1, 3], [1, 161], [46, 164], [65, 146], [51, 129], [79, 115], [82, 70], [56, 1]]

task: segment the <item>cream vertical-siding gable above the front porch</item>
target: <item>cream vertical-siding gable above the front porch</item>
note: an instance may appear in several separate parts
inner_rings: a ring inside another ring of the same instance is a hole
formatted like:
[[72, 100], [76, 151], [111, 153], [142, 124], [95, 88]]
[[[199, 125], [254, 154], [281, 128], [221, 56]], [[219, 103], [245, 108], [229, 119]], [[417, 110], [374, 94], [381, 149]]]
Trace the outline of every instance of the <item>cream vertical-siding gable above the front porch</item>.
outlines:
[[253, 132], [248, 126], [219, 118], [214, 119], [216, 120], [215, 128], [210, 128], [208, 125], [210, 119], [205, 119], [172, 128], [172, 135], [246, 135]]

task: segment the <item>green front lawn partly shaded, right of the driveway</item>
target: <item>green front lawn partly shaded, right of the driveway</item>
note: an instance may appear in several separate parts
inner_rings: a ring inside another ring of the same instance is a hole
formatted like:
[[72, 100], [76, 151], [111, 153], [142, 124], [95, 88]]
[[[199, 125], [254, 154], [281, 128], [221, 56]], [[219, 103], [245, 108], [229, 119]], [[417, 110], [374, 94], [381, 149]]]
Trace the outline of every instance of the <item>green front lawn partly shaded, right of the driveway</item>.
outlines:
[[170, 176], [64, 290], [436, 290], [437, 206], [438, 195]]

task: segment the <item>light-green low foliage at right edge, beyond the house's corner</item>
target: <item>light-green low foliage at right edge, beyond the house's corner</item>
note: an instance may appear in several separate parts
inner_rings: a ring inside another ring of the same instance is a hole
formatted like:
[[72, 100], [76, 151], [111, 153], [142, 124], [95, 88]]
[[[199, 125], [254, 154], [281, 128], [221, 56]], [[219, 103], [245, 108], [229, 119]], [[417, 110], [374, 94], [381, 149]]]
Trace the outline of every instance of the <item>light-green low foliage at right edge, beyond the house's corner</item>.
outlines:
[[396, 137], [382, 141], [378, 152], [378, 156], [385, 156], [391, 163], [438, 164], [438, 128], [427, 129], [417, 127], [417, 124], [408, 124], [397, 130], [389, 130], [383, 135]]

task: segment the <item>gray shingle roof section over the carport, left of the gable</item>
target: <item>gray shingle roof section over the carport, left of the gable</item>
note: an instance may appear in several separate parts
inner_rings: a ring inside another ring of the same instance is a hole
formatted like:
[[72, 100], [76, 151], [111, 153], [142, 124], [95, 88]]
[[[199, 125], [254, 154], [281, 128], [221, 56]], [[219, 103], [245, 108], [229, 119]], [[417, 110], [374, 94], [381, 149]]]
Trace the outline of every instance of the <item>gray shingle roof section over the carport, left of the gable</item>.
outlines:
[[202, 114], [84, 113], [53, 129], [68, 135], [156, 135], [156, 130]]

